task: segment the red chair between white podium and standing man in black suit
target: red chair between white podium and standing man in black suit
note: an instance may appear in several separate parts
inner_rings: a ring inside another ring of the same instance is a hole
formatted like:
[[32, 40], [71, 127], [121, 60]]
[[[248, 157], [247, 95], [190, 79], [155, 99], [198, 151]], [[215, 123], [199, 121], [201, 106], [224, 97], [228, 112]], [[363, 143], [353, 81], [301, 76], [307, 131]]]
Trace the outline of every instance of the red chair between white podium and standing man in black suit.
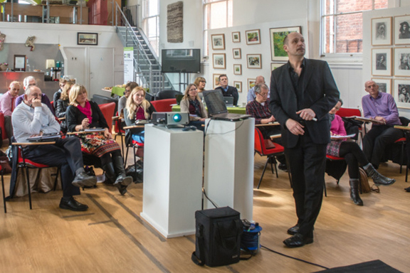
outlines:
[[[255, 127], [255, 152], [260, 156], [267, 156], [265, 167], [263, 168], [261, 179], [258, 183], [258, 188], [261, 186], [263, 175], [266, 171], [266, 166], [270, 163], [270, 168], [273, 172], [273, 164], [275, 164], [276, 177], [278, 178], [278, 168], [276, 168], [275, 157], [283, 155], [285, 148], [283, 146], [273, 143], [270, 139], [263, 139], [261, 131]], [[288, 172], [289, 173], [289, 172]], [[290, 176], [290, 173], [289, 173]]]

